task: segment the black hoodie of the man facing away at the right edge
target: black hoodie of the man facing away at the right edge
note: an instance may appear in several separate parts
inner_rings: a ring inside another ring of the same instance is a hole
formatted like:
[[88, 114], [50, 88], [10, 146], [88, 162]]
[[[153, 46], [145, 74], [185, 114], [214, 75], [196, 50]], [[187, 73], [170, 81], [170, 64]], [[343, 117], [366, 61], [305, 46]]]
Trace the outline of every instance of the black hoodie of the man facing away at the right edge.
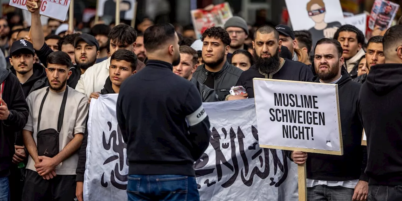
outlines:
[[402, 64], [371, 67], [360, 91], [369, 185], [402, 185]]

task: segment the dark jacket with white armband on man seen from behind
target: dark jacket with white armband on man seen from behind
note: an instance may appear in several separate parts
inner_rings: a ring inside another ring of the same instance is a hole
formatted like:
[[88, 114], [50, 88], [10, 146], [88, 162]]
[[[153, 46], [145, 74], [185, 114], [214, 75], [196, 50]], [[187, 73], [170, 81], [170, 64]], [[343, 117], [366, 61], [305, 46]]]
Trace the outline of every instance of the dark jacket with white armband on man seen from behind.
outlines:
[[199, 91], [174, 74], [172, 64], [148, 60], [127, 78], [116, 114], [130, 175], [195, 176], [193, 163], [211, 137], [209, 120]]

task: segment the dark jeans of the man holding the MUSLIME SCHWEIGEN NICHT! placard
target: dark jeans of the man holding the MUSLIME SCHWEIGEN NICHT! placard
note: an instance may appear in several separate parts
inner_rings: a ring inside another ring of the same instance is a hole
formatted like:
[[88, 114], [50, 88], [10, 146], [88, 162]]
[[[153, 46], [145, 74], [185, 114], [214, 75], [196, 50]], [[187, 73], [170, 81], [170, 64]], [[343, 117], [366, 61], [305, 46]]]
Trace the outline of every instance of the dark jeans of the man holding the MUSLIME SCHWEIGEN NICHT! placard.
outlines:
[[355, 189], [318, 185], [307, 188], [308, 201], [351, 201]]

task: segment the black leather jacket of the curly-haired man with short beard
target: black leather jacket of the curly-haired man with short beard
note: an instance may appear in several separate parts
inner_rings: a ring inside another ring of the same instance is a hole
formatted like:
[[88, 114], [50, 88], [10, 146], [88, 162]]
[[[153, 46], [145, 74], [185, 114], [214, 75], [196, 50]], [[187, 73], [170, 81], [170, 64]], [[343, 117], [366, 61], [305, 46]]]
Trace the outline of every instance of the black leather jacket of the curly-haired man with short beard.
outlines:
[[[241, 69], [230, 65], [228, 61], [225, 62], [220, 71], [212, 73], [212, 77], [215, 78], [214, 89], [219, 100], [224, 100], [226, 95], [229, 95], [230, 88], [236, 86], [237, 80], [242, 73], [243, 71]], [[205, 69], [205, 65], [200, 65], [193, 74], [193, 77], [202, 84], [207, 79], [207, 76], [208, 71]]]

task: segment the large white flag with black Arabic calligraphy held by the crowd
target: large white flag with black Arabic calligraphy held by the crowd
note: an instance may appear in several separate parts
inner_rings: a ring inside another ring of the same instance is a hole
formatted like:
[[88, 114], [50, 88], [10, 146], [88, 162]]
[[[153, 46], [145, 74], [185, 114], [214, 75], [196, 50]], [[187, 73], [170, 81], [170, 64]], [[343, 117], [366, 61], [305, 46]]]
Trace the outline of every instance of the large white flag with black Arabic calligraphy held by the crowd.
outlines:
[[[116, 102], [117, 94], [91, 100], [85, 201], [127, 200], [127, 148], [117, 124]], [[212, 135], [194, 164], [201, 201], [298, 199], [297, 165], [282, 150], [258, 146], [254, 99], [204, 103], [204, 108]]]

